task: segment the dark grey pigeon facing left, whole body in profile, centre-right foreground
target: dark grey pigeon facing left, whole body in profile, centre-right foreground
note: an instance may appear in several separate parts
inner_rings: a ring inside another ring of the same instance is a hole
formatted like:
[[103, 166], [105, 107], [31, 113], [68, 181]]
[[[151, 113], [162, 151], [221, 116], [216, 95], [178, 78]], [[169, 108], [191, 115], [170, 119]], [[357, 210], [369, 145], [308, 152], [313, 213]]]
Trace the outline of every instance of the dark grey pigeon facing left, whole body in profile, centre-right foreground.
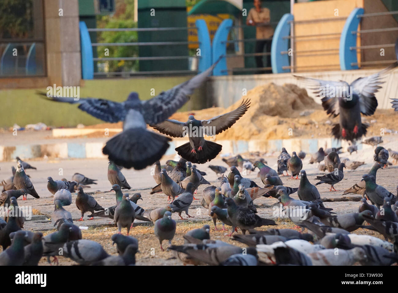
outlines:
[[239, 227], [242, 230], [242, 234], [246, 234], [246, 230], [252, 230], [264, 225], [276, 225], [273, 220], [260, 218], [250, 208], [236, 205], [231, 198], [226, 199], [226, 204], [228, 205], [228, 216], [233, 224], [232, 232], [228, 236], [232, 235], [235, 227]]

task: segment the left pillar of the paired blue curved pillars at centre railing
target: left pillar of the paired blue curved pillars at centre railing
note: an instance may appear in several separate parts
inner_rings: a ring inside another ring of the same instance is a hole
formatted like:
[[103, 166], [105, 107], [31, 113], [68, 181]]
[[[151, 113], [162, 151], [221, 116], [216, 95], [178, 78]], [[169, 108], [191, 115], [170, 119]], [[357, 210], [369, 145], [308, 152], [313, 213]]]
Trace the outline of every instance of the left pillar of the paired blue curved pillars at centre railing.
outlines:
[[211, 40], [209, 29], [205, 20], [198, 19], [195, 22], [197, 27], [200, 57], [198, 60], [198, 70], [203, 72], [213, 64], [212, 52], [211, 52]]

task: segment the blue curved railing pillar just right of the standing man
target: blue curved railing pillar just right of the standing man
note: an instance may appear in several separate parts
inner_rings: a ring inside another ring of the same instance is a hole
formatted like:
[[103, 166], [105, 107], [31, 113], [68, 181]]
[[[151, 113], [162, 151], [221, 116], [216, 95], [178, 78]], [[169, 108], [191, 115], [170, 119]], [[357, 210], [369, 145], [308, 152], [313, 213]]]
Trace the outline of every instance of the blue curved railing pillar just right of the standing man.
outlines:
[[289, 50], [289, 39], [283, 37], [290, 35], [290, 21], [293, 19], [293, 14], [284, 14], [275, 29], [271, 44], [272, 73], [290, 72], [290, 69], [282, 68], [290, 65], [290, 56], [281, 52]]

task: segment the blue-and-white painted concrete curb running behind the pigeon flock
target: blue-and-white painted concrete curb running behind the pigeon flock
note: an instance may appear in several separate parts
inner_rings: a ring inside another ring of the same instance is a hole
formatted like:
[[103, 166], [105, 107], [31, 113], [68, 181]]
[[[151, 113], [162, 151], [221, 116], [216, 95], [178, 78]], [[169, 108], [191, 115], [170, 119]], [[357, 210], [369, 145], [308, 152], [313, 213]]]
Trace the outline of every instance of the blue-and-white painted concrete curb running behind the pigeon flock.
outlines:
[[[185, 144], [187, 139], [176, 139], [170, 142], [166, 155], [175, 155], [176, 147]], [[347, 147], [347, 142], [341, 142], [332, 138], [299, 139], [291, 138], [285, 140], [215, 140], [222, 145], [221, 155], [238, 154], [244, 152], [273, 152], [281, 151], [285, 147], [289, 153], [292, 151], [304, 151], [314, 153], [320, 147]], [[106, 158], [102, 153], [105, 144], [102, 142], [73, 143], [61, 142], [55, 144], [26, 144], [16, 146], [0, 146], [0, 161], [12, 161], [16, 156], [23, 159], [39, 157], [51, 157], [60, 159], [84, 159], [84, 158]], [[366, 147], [358, 144], [358, 150]]]

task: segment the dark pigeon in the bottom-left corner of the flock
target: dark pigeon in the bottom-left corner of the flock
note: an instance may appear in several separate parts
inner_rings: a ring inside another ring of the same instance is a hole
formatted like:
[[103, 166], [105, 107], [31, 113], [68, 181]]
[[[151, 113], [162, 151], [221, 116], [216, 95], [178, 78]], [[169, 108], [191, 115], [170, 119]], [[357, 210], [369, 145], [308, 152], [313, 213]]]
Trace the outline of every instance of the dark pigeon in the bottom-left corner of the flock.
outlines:
[[0, 265], [23, 265], [25, 260], [25, 252], [23, 243], [25, 241], [25, 233], [16, 233], [14, 241], [7, 249], [3, 246], [3, 252], [0, 254]]

